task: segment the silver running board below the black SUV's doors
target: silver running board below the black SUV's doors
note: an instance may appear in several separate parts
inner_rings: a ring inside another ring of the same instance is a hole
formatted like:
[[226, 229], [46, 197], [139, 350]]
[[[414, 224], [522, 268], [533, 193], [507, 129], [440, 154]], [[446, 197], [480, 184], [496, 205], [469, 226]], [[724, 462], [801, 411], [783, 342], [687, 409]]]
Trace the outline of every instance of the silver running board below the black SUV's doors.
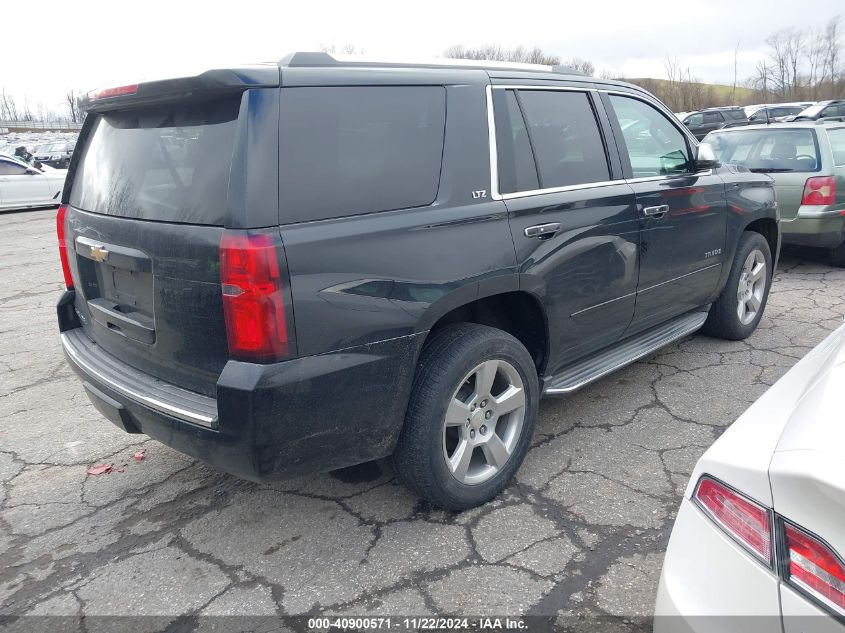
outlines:
[[706, 312], [688, 312], [641, 334], [616, 343], [566, 367], [546, 381], [543, 395], [572, 393], [602, 376], [630, 365], [652, 352], [692, 334], [704, 325]]

